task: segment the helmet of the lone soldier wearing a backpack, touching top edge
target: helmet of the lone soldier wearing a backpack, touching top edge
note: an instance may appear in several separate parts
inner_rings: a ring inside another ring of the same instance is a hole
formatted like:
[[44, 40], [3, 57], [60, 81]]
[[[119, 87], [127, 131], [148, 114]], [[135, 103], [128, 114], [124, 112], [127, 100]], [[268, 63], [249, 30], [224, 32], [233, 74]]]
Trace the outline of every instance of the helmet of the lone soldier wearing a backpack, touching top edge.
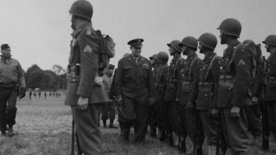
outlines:
[[91, 21], [93, 8], [89, 1], [77, 0], [72, 4], [69, 12], [72, 15], [83, 17], [84, 19]]

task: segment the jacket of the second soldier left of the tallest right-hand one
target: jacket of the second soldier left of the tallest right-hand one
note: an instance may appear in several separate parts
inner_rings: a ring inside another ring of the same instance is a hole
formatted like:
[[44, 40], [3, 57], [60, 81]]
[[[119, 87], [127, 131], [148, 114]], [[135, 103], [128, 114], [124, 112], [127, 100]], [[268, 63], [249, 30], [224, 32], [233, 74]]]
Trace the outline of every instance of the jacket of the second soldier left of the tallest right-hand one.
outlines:
[[180, 99], [181, 105], [186, 105], [188, 101], [195, 103], [200, 66], [201, 59], [197, 57], [197, 54], [188, 56], [181, 66], [181, 76], [177, 87], [177, 98]]

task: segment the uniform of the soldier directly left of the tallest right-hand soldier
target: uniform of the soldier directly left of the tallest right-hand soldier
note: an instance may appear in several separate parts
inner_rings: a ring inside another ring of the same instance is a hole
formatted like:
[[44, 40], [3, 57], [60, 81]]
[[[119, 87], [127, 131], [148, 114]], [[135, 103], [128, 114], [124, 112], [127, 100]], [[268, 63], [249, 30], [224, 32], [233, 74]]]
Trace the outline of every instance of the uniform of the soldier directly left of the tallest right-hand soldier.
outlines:
[[214, 107], [215, 99], [213, 94], [217, 92], [215, 85], [219, 81], [218, 61], [219, 57], [214, 52], [210, 52], [204, 57], [204, 64], [201, 65], [199, 72], [198, 94], [195, 101], [201, 127], [203, 127], [208, 145], [216, 145], [217, 143], [218, 118], [210, 117], [210, 109]]

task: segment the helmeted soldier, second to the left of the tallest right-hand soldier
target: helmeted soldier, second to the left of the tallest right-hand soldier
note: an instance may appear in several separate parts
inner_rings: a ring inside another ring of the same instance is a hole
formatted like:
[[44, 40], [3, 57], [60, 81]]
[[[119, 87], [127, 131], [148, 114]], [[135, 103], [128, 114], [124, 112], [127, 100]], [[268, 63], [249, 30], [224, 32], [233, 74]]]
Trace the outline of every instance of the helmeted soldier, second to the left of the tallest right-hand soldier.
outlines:
[[[179, 87], [177, 90], [177, 99], [179, 108], [177, 108], [181, 116], [181, 139], [180, 147], [181, 152], [186, 152], [186, 137], [187, 135], [194, 142], [194, 149], [197, 154], [202, 154], [201, 143], [197, 141], [195, 130], [201, 131], [201, 127], [196, 128], [196, 113], [195, 113], [195, 99], [197, 97], [197, 83], [199, 81], [199, 69], [201, 60], [195, 53], [197, 51], [197, 39], [195, 37], [185, 37], [179, 43], [181, 51], [187, 56], [186, 61], [180, 68]], [[202, 132], [198, 132], [201, 134]], [[198, 135], [201, 137], [200, 135]], [[197, 145], [195, 145], [197, 144]]]

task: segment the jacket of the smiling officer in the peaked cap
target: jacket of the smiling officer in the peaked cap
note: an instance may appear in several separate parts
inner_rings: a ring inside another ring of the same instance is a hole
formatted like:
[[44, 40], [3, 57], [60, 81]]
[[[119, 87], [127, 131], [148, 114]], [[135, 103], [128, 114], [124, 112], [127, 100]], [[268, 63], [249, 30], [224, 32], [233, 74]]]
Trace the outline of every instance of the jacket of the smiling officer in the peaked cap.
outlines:
[[130, 99], [154, 98], [155, 83], [152, 77], [152, 65], [143, 56], [138, 63], [132, 55], [122, 58], [118, 63], [115, 77], [115, 96]]

